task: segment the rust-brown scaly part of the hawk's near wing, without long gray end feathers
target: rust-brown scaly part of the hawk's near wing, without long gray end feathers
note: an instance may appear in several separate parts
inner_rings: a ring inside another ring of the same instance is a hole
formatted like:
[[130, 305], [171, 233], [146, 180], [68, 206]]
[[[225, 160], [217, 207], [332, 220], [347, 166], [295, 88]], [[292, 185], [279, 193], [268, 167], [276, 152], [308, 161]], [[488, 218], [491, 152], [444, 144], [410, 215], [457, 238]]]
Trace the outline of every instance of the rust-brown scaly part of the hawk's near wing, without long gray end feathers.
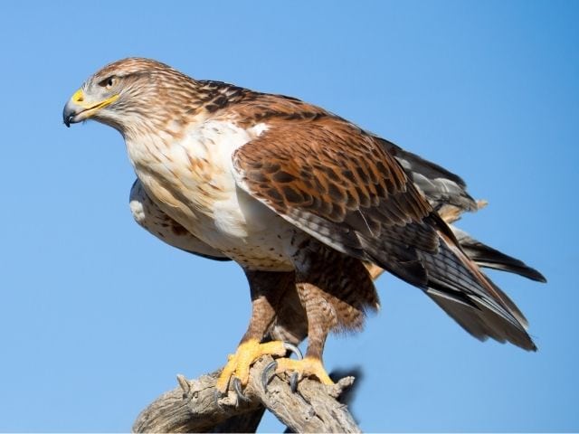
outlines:
[[233, 157], [242, 188], [331, 247], [423, 285], [408, 246], [437, 249], [432, 208], [394, 158], [339, 118], [268, 125]]

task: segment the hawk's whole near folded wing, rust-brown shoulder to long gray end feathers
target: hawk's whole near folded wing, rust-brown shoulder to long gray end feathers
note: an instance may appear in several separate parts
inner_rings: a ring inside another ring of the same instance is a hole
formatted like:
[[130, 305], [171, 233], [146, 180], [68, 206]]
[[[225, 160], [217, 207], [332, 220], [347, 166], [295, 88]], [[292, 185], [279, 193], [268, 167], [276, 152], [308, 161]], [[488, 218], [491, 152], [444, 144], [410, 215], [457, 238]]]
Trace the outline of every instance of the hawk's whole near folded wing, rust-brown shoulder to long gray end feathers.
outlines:
[[271, 117], [233, 155], [239, 186], [319, 241], [422, 288], [472, 335], [535, 349], [387, 149], [344, 119]]

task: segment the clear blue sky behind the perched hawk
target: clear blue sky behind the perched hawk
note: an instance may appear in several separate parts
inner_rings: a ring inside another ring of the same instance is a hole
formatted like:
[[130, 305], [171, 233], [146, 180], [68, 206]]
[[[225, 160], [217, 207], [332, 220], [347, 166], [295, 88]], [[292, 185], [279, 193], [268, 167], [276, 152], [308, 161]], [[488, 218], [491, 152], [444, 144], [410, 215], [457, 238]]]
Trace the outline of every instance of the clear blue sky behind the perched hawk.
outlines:
[[489, 200], [462, 227], [549, 279], [493, 274], [529, 354], [381, 278], [382, 311], [325, 354], [364, 369], [362, 429], [578, 430], [578, 22], [551, 1], [2, 2], [0, 430], [127, 431], [247, 324], [241, 269], [132, 221], [119, 134], [62, 125], [83, 80], [135, 55], [306, 99], [448, 167]]

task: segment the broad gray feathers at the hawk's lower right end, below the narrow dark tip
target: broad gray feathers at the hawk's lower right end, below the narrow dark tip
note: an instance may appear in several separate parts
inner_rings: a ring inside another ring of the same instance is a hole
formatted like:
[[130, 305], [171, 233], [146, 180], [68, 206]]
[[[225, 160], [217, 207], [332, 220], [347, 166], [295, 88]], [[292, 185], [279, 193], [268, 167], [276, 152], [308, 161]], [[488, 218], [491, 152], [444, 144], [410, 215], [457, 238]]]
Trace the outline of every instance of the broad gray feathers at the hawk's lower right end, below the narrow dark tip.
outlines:
[[451, 240], [442, 236], [438, 253], [420, 256], [428, 276], [424, 291], [470, 335], [536, 351], [525, 316]]

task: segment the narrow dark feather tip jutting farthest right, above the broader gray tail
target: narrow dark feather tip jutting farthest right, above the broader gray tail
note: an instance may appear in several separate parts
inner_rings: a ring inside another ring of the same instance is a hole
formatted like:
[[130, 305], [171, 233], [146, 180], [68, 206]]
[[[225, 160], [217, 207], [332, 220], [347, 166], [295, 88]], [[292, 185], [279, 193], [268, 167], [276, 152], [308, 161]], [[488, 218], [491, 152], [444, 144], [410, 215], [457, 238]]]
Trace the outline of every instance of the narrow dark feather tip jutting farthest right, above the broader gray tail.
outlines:
[[539, 271], [532, 269], [522, 260], [508, 256], [501, 251], [473, 239], [467, 232], [461, 231], [453, 225], [450, 225], [450, 227], [454, 236], [459, 241], [462, 250], [470, 259], [474, 260], [479, 267], [508, 271], [525, 278], [546, 282], [546, 278]]

